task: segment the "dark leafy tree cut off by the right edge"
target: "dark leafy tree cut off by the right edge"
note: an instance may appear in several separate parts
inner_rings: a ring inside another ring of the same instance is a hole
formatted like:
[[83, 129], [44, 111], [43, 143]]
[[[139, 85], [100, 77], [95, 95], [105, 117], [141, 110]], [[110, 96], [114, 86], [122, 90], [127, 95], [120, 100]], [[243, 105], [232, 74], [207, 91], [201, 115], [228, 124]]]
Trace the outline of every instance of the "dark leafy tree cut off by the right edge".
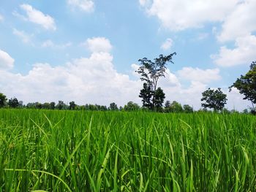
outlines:
[[252, 102], [253, 110], [255, 110], [254, 104], [256, 104], [256, 61], [250, 65], [249, 72], [245, 75], [241, 75], [240, 78], [230, 86], [237, 88], [241, 94], [244, 95], [244, 99], [248, 99]]

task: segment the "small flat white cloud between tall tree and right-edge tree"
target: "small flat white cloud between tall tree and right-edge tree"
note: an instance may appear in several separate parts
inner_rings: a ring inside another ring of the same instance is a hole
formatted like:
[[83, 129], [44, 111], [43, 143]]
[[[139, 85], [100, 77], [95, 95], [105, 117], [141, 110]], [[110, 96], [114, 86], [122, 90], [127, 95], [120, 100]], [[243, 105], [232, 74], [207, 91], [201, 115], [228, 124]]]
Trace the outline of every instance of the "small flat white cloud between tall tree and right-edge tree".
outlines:
[[199, 69], [192, 67], [184, 67], [177, 72], [181, 80], [191, 80], [195, 82], [211, 82], [220, 80], [219, 69]]

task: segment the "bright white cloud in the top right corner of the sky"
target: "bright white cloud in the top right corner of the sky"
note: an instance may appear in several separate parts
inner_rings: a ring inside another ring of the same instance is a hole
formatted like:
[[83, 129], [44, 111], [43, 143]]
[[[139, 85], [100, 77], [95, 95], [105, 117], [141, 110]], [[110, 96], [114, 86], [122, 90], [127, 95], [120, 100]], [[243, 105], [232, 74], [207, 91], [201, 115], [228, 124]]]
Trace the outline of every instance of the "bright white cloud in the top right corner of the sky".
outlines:
[[256, 31], [256, 1], [245, 0], [238, 4], [222, 24], [222, 31], [217, 36], [220, 42], [236, 40]]

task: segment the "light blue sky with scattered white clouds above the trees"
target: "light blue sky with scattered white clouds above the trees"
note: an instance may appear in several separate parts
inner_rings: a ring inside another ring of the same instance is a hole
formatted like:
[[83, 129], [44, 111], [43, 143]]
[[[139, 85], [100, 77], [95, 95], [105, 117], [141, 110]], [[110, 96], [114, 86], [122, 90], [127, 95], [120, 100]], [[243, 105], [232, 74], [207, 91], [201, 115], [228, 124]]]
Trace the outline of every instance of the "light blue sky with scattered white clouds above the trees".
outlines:
[[222, 88], [229, 110], [251, 106], [228, 87], [256, 58], [255, 0], [1, 0], [0, 92], [28, 102], [141, 105], [140, 58], [173, 57], [165, 101], [200, 109]]

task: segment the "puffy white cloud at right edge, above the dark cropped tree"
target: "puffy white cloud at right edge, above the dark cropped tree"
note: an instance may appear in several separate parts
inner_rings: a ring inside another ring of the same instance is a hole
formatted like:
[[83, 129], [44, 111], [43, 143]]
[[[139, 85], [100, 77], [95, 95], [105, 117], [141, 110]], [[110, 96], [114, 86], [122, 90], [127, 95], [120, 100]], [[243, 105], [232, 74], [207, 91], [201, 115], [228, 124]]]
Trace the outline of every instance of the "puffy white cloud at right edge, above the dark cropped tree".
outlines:
[[249, 35], [246, 37], [238, 37], [236, 39], [236, 47], [228, 49], [220, 47], [217, 55], [211, 55], [214, 63], [219, 66], [236, 66], [240, 64], [250, 64], [255, 61], [256, 55], [256, 37]]

